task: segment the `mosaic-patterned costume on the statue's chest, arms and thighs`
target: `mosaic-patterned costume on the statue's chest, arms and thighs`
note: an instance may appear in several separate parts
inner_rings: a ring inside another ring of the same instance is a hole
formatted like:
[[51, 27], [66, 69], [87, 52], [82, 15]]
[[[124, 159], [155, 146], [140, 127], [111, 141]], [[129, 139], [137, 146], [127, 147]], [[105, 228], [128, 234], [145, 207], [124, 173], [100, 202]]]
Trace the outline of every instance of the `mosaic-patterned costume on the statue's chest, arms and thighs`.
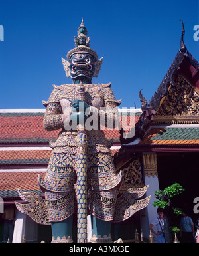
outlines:
[[[46, 106], [44, 128], [58, 130], [50, 162], [44, 179], [38, 177], [38, 184], [45, 193], [46, 206], [50, 221], [62, 221], [74, 213], [76, 205], [76, 130], [65, 130], [70, 116], [72, 102], [77, 99], [76, 84], [54, 85]], [[86, 84], [86, 103], [90, 114], [97, 114], [98, 128], [100, 120], [104, 126], [115, 128], [119, 120], [117, 106], [111, 84]], [[101, 119], [100, 119], [101, 118]], [[111, 122], [109, 122], [111, 121]], [[88, 130], [88, 195], [90, 213], [99, 219], [111, 221], [115, 209], [117, 192], [122, 182], [121, 173], [115, 173], [110, 147], [112, 141], [105, 138], [102, 130]]]

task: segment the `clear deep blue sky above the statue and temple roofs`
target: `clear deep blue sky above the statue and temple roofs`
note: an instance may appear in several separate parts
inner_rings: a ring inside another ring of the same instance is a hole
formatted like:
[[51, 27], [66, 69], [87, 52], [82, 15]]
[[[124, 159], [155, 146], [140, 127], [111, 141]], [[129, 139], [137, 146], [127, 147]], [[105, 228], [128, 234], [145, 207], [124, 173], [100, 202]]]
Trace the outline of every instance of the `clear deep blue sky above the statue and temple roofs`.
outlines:
[[141, 107], [139, 90], [149, 101], [184, 43], [199, 61], [198, 0], [1, 0], [1, 109], [44, 108], [52, 84], [71, 83], [61, 58], [74, 48], [82, 17], [90, 47], [103, 58], [92, 82], [112, 83], [121, 107]]

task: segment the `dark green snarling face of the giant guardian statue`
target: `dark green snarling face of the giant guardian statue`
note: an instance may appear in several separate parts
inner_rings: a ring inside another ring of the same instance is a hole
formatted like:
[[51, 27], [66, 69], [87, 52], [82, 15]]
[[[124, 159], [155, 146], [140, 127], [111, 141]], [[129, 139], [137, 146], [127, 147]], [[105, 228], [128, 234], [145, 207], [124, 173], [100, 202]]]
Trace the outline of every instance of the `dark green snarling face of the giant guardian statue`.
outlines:
[[95, 59], [88, 53], [76, 53], [68, 60], [70, 63], [70, 76], [77, 78], [84, 76], [92, 78], [95, 72]]

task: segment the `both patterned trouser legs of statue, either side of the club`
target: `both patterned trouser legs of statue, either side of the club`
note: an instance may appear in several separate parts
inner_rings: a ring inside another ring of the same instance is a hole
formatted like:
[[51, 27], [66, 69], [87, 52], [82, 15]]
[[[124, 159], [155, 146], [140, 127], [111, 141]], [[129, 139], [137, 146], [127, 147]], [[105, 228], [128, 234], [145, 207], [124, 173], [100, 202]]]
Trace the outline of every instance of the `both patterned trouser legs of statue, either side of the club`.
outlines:
[[[76, 208], [76, 154], [52, 153], [44, 179], [38, 184], [45, 193], [50, 221], [62, 221]], [[121, 173], [115, 173], [111, 154], [88, 154], [88, 206], [99, 219], [113, 220]]]

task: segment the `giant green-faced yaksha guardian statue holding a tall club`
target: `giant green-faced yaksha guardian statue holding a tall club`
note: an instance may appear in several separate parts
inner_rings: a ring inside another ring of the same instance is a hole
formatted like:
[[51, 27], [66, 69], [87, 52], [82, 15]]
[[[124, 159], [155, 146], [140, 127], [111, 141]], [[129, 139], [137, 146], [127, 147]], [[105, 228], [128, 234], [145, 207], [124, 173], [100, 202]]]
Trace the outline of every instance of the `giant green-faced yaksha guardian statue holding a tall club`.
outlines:
[[[46, 176], [38, 178], [44, 192], [42, 199], [34, 192], [22, 192], [26, 206], [17, 209], [34, 221], [51, 224], [52, 242], [72, 242], [72, 218], [77, 213], [78, 242], [87, 240], [87, 209], [91, 215], [94, 242], [111, 241], [111, 222], [123, 221], [149, 203], [135, 199], [145, 194], [147, 186], [119, 195], [122, 172], [115, 172], [111, 156], [111, 141], [105, 138], [104, 127], [118, 125], [117, 106], [111, 84], [92, 84], [103, 58], [89, 47], [90, 37], [82, 23], [75, 37], [76, 47], [62, 59], [66, 76], [72, 84], [55, 86], [46, 106], [44, 128], [62, 129], [53, 148]], [[133, 205], [133, 206], [132, 206]]]

